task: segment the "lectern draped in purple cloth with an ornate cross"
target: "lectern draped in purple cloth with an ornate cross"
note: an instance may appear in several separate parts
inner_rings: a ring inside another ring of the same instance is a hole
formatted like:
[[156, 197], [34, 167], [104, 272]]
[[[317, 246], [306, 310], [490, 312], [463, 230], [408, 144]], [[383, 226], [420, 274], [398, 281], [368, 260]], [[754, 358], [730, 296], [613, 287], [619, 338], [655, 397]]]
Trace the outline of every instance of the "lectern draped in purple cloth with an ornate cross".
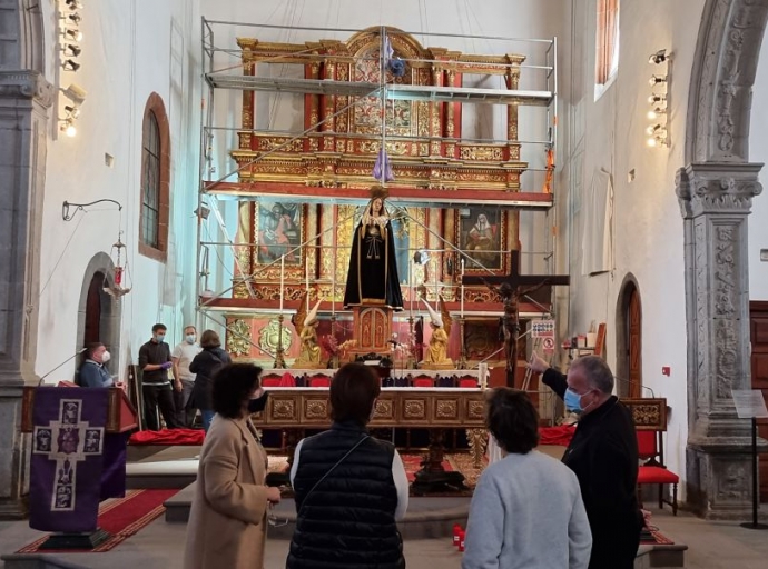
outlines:
[[120, 388], [24, 387], [21, 431], [33, 433], [30, 527], [53, 531], [41, 550], [93, 549], [109, 538], [98, 527], [99, 502], [125, 495], [128, 436], [121, 433], [136, 429], [137, 419]]

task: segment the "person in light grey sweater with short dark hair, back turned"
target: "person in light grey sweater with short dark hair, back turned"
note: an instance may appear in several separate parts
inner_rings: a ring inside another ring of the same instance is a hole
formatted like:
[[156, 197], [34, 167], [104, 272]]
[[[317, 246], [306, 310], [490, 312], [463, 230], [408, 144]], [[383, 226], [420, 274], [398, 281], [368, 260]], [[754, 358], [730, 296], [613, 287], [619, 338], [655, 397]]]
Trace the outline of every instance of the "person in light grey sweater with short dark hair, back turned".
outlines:
[[579, 480], [534, 450], [539, 413], [528, 395], [491, 390], [485, 417], [506, 457], [474, 490], [462, 569], [587, 569], [592, 535]]

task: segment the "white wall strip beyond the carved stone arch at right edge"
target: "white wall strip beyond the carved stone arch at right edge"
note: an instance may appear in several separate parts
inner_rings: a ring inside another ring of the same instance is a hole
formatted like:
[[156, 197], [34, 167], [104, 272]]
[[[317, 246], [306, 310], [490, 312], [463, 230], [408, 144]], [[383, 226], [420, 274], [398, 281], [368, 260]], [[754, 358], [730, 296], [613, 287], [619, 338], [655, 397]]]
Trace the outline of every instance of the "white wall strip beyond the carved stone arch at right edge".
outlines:
[[[768, 41], [762, 41], [749, 124], [749, 161], [768, 162]], [[760, 261], [760, 249], [768, 249], [768, 170], [760, 172], [762, 194], [752, 200], [749, 223], [749, 299], [768, 300], [768, 262]]]

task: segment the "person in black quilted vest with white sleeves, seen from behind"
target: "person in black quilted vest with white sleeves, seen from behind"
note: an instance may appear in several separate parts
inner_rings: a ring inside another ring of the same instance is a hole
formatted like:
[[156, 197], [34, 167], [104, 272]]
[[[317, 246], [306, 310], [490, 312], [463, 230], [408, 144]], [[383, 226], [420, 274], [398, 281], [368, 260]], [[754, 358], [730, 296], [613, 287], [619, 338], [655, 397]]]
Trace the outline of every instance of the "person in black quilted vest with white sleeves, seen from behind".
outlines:
[[405, 468], [394, 446], [366, 429], [380, 392], [368, 366], [343, 366], [331, 383], [331, 430], [296, 447], [287, 569], [405, 567], [396, 523], [407, 509]]

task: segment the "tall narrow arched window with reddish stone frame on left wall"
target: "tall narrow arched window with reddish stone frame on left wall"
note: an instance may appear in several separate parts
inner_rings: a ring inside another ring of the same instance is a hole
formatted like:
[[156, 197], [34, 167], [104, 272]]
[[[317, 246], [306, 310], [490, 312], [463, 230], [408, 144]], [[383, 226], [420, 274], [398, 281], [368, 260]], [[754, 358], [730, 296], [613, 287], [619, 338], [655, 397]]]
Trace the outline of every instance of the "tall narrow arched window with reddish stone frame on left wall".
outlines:
[[166, 260], [170, 203], [170, 131], [159, 94], [149, 96], [141, 133], [139, 252]]

